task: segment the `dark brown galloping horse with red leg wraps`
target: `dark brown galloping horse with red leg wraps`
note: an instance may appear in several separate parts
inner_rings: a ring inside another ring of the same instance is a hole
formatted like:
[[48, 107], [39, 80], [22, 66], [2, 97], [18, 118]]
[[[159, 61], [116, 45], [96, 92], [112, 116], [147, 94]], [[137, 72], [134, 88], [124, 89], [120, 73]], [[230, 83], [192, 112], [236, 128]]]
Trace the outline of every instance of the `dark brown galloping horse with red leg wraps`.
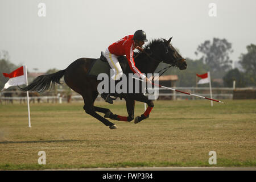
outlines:
[[[171, 39], [172, 37], [168, 40], [163, 38], [153, 39], [146, 46], [144, 46], [144, 51], [134, 53], [134, 62], [136, 67], [142, 73], [146, 74], [154, 73], [155, 69], [161, 62], [178, 67], [180, 70], [186, 69], [186, 61], [172, 46]], [[123, 74], [128, 75], [129, 73], [133, 73], [129, 68], [125, 56], [122, 57], [122, 60], [124, 59], [126, 61], [119, 61], [121, 68], [123, 69]], [[94, 106], [94, 101], [99, 94], [97, 85], [101, 81], [97, 80], [96, 78], [89, 77], [87, 73], [93, 64], [93, 61], [95, 60], [96, 59], [94, 58], [77, 59], [73, 61], [73, 63], [71, 63], [66, 69], [49, 75], [36, 77], [35, 80], [31, 82], [31, 84], [20, 89], [23, 91], [43, 92], [49, 88], [52, 89], [56, 83], [61, 84], [60, 79], [64, 76], [64, 81], [69, 86], [69, 88], [73, 89], [75, 92], [82, 96], [84, 100], [83, 109], [85, 110], [85, 113], [98, 119], [104, 123], [105, 126], [109, 126], [110, 129], [117, 129], [117, 126], [106, 118], [125, 122], [133, 121], [135, 101], [146, 103], [147, 109], [141, 116], [138, 116], [134, 119], [134, 123], [139, 123], [143, 119], [148, 118], [152, 108], [154, 107], [154, 103], [152, 100], [149, 100], [148, 97], [144, 96], [142, 92], [113, 94], [116, 97], [125, 99], [128, 113], [127, 117], [113, 114], [112, 111], [107, 108]], [[96, 112], [104, 113], [105, 115], [102, 117]]]

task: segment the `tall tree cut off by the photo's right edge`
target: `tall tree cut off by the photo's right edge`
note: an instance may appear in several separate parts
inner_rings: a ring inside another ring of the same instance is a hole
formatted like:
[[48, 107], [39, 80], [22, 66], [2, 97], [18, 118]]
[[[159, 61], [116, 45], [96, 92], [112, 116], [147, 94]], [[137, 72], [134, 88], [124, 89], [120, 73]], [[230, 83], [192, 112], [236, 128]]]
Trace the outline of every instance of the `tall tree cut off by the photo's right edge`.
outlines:
[[256, 85], [256, 45], [246, 46], [247, 53], [241, 54], [239, 63], [245, 69], [245, 82], [247, 86]]

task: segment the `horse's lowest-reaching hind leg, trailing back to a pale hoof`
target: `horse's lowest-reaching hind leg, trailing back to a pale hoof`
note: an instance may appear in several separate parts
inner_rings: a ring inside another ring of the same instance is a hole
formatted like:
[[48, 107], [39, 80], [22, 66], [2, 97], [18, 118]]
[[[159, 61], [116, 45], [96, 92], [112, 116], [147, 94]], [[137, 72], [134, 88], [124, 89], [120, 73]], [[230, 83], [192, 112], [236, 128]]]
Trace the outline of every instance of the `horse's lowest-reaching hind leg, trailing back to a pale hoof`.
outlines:
[[117, 126], [115, 126], [114, 123], [108, 121], [108, 119], [105, 119], [104, 117], [101, 117], [101, 115], [97, 114], [94, 109], [94, 100], [92, 97], [92, 94], [89, 94], [88, 92], [82, 95], [82, 98], [84, 98], [84, 110], [87, 114], [92, 115], [92, 117], [98, 119], [102, 123], [104, 123], [105, 126], [109, 126], [110, 129], [116, 129]]

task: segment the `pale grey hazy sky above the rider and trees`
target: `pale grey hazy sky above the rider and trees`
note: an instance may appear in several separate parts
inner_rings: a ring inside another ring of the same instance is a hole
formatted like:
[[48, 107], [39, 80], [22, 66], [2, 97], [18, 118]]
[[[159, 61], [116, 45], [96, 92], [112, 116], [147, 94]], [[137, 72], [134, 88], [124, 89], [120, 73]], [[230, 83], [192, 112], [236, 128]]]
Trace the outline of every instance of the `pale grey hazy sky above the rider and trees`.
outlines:
[[[46, 16], [39, 17], [39, 3]], [[208, 15], [215, 3], [217, 16]], [[196, 59], [199, 44], [227, 39], [237, 61], [246, 46], [256, 44], [255, 0], [1, 0], [0, 50], [14, 64], [65, 69], [80, 57], [100, 57], [113, 42], [136, 30], [147, 38], [170, 38], [183, 57]]]

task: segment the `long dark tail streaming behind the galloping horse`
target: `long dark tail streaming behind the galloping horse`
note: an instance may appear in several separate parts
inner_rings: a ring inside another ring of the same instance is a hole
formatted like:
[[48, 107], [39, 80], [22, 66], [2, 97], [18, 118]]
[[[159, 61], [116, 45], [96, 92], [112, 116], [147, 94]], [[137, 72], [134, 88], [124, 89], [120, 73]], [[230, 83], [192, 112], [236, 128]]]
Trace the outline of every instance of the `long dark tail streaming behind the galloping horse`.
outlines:
[[40, 75], [36, 77], [35, 80], [33, 80], [28, 86], [19, 88], [22, 91], [44, 92], [48, 90], [49, 87], [52, 89], [55, 86], [55, 83], [62, 84], [60, 82], [60, 78], [63, 77], [64, 74], [65, 69], [49, 75]]

